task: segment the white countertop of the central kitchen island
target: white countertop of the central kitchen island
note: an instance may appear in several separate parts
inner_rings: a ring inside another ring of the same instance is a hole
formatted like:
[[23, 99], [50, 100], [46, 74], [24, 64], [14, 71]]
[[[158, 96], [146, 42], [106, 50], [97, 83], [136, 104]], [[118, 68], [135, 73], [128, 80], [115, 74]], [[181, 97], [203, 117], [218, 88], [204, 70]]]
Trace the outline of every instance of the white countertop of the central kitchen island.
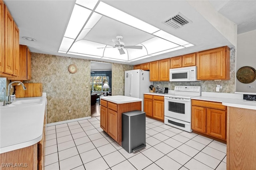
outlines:
[[117, 96], [103, 96], [103, 97], [100, 97], [100, 99], [104, 99], [106, 101], [110, 101], [110, 102], [117, 103], [117, 104], [132, 103], [132, 102], [142, 101], [142, 99], [139, 99], [139, 98], [128, 97], [128, 96], [121, 96], [121, 95], [117, 95]]

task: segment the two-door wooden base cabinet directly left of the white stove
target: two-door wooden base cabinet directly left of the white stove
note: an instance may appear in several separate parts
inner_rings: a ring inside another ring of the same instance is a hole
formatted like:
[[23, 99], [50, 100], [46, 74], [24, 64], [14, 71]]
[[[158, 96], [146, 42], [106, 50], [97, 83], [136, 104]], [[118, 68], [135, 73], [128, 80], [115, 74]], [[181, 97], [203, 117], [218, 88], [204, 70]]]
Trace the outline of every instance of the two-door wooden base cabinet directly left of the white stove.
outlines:
[[144, 112], [147, 117], [164, 122], [164, 96], [144, 94]]

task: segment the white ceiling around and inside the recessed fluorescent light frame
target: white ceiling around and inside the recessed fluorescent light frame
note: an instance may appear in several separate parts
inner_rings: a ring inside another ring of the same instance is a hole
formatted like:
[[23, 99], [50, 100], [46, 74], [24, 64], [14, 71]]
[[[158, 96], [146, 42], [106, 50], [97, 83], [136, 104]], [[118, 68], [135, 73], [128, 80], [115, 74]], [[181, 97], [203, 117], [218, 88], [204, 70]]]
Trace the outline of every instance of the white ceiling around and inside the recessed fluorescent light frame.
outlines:
[[[194, 44], [192, 47], [172, 51], [150, 58], [126, 64], [139, 64], [186, 53], [192, 53], [214, 47], [228, 45], [234, 47], [200, 12], [186, 0], [102, 0], [127, 14], [130, 14], [152, 26], [155, 26], [182, 40]], [[255, 0], [211, 0], [214, 10], [238, 25], [238, 34], [256, 29]], [[58, 53], [69, 18], [72, 14], [75, 0], [4, 0], [18, 28], [20, 29], [20, 44], [28, 45], [32, 52], [95, 59], [79, 55]], [[192, 24], [174, 30], [162, 21], [182, 13]], [[213, 18], [215, 16], [212, 16]], [[117, 35], [124, 36], [125, 45], [136, 45], [152, 37], [151, 34], [112, 20], [106, 16], [94, 26], [86, 36], [92, 42], [113, 45], [112, 39]], [[28, 42], [22, 37], [34, 38], [36, 42]], [[138, 49], [139, 50], [139, 49]], [[107, 62], [118, 61], [108, 60]]]

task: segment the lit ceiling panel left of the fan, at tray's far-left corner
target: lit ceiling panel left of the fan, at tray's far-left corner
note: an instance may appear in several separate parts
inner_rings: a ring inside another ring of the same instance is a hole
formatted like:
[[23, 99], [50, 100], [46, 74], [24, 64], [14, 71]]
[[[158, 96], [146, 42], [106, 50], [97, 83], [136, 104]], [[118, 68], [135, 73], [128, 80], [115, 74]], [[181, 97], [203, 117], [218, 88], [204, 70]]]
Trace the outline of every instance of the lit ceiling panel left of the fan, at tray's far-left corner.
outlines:
[[97, 49], [97, 47], [105, 46], [106, 45], [102, 43], [91, 42], [88, 40], [80, 40], [72, 45], [69, 52], [103, 56], [104, 49]]

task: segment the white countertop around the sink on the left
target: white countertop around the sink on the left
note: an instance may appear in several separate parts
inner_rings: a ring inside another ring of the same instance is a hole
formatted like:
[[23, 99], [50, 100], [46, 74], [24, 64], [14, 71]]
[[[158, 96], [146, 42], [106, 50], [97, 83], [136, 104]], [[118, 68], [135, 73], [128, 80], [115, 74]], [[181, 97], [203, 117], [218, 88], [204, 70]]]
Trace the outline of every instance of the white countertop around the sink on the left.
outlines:
[[[38, 104], [13, 105], [15, 102], [40, 99]], [[36, 144], [42, 139], [46, 93], [42, 97], [17, 98], [0, 107], [0, 153]]]

